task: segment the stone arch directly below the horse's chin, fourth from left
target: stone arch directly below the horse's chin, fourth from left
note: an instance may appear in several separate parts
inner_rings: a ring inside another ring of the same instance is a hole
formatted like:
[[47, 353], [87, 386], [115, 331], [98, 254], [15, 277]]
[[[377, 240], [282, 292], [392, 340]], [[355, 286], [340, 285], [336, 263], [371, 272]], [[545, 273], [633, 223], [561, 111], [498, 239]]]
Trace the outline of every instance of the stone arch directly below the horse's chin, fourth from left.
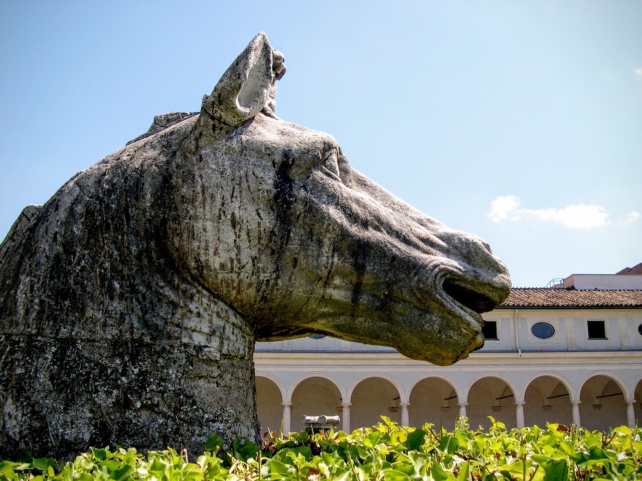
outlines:
[[462, 392], [448, 376], [428, 374], [417, 378], [410, 387], [408, 419], [410, 426], [432, 423], [451, 430], [459, 416]]

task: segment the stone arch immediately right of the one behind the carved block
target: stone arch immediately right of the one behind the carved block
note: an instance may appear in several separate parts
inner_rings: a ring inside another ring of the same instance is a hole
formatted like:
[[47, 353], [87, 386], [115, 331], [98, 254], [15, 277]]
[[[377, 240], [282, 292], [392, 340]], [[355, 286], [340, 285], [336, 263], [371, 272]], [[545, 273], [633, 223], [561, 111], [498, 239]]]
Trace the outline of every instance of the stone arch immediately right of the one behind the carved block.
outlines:
[[381, 421], [381, 416], [401, 424], [403, 391], [390, 376], [380, 373], [361, 376], [352, 384], [349, 393], [352, 429], [373, 426]]

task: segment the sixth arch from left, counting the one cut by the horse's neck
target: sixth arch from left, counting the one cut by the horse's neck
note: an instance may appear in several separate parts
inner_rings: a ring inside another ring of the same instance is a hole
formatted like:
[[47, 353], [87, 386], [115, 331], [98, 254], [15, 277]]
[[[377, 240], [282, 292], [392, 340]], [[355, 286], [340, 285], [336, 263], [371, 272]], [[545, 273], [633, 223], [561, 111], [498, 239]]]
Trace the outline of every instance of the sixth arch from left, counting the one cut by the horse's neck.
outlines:
[[546, 423], [573, 423], [571, 400], [575, 400], [575, 395], [568, 380], [557, 373], [542, 372], [532, 376], [524, 387], [523, 400], [526, 426], [543, 428]]

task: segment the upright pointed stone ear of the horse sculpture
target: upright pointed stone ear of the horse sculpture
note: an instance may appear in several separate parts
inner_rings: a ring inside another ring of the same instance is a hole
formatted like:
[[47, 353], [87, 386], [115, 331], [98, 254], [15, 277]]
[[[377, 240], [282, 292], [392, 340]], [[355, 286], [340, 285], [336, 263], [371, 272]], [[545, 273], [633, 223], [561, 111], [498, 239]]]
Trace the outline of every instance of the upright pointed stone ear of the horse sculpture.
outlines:
[[221, 76], [211, 95], [204, 97], [201, 117], [209, 116], [214, 123], [236, 127], [270, 106], [270, 92], [285, 70], [282, 60], [267, 35], [257, 33]]

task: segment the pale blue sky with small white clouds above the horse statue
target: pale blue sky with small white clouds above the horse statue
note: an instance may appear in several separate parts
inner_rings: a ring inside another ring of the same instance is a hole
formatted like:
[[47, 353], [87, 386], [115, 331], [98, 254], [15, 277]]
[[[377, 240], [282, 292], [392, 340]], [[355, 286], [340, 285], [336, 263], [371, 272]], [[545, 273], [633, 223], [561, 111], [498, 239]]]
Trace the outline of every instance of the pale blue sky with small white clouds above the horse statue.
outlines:
[[639, 1], [0, 3], [0, 238], [198, 110], [258, 32], [277, 115], [502, 257], [516, 287], [642, 262]]

